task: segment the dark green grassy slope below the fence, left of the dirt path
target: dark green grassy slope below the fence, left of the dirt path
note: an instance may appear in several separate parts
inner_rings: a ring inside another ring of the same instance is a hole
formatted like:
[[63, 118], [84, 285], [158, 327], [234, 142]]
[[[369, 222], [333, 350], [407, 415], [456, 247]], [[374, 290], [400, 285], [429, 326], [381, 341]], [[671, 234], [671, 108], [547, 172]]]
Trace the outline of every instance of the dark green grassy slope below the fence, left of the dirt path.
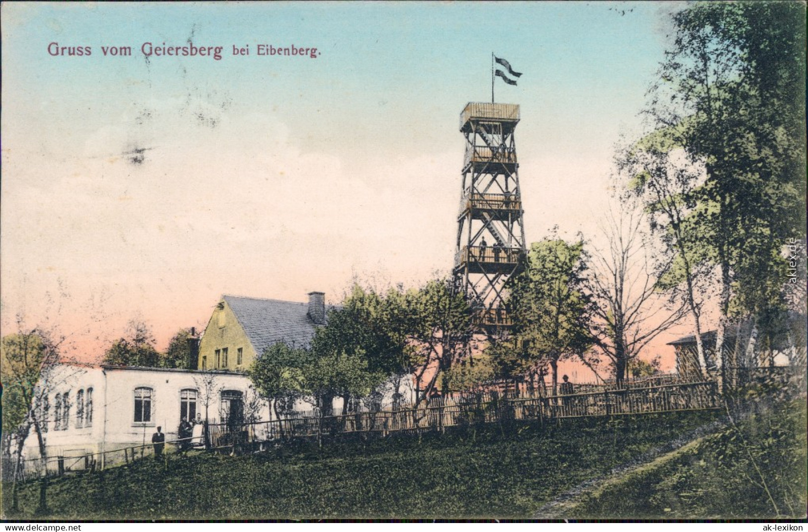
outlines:
[[[531, 517], [541, 504], [717, 417], [565, 421], [260, 455], [170, 456], [52, 480], [48, 518]], [[4, 492], [9, 493], [7, 490]], [[36, 483], [19, 492], [31, 517]]]

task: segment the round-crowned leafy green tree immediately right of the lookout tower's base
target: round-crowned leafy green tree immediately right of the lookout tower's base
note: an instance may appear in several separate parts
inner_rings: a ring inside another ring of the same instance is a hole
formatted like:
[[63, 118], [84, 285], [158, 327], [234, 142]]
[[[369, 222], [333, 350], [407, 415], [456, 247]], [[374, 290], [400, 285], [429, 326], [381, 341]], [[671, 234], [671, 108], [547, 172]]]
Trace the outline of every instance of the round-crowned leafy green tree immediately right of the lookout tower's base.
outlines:
[[514, 320], [511, 341], [524, 346], [528, 366], [549, 365], [553, 395], [558, 393], [558, 362], [583, 357], [591, 346], [586, 269], [583, 239], [568, 243], [554, 228], [552, 235], [531, 245], [527, 268], [511, 280], [507, 299], [508, 316]]

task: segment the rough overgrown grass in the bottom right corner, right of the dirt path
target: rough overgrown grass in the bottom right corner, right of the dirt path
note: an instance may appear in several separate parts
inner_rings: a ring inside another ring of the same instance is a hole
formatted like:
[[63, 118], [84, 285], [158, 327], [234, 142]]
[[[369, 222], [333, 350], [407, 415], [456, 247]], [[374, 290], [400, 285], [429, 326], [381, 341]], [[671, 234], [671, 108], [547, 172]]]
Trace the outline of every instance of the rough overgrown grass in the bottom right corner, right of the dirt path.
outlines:
[[587, 496], [567, 517], [806, 516], [806, 404], [729, 426]]

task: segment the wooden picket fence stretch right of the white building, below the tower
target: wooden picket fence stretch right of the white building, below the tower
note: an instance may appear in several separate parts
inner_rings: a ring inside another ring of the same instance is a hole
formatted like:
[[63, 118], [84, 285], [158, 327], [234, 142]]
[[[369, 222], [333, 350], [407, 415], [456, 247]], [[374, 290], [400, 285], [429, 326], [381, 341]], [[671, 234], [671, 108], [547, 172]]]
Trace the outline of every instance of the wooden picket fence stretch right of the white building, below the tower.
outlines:
[[284, 438], [319, 438], [325, 434], [406, 431], [442, 431], [460, 425], [501, 421], [549, 421], [572, 417], [599, 417], [706, 410], [719, 407], [713, 381], [630, 387], [569, 396], [519, 396], [515, 393], [478, 392], [437, 397], [419, 408], [387, 408], [336, 416], [306, 416], [246, 423], [238, 427], [208, 425], [213, 448]]

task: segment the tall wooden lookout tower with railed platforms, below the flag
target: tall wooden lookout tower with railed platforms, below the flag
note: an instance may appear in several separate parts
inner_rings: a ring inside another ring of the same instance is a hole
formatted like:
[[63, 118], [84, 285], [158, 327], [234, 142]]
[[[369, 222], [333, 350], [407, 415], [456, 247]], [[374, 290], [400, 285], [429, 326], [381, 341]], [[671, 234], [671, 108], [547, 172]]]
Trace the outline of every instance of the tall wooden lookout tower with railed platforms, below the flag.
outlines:
[[503, 287], [526, 253], [514, 140], [519, 118], [512, 103], [469, 103], [460, 119], [466, 144], [453, 273], [486, 333], [511, 325]]

